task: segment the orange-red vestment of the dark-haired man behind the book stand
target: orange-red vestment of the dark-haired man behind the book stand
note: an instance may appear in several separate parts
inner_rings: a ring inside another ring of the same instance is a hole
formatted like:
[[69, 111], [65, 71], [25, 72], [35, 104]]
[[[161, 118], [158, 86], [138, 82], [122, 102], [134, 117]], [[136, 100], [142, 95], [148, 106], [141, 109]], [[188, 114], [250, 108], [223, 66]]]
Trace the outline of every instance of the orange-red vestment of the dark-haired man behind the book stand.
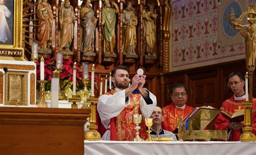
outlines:
[[173, 132], [177, 128], [177, 125], [175, 125], [174, 123], [178, 122], [179, 116], [183, 120], [187, 117], [188, 114], [190, 114], [190, 112], [194, 110], [193, 107], [190, 107], [188, 105], [186, 105], [184, 109], [176, 108], [174, 103], [167, 105], [162, 109], [164, 114], [164, 121], [162, 123], [163, 129], [171, 132]]

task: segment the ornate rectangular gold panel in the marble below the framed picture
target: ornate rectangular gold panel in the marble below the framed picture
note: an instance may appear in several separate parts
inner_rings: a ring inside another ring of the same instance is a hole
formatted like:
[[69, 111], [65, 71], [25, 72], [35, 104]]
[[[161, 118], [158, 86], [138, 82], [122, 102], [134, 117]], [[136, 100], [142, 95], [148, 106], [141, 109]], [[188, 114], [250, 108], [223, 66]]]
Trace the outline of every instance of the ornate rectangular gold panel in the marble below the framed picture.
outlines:
[[5, 74], [5, 105], [28, 105], [28, 73], [8, 71]]

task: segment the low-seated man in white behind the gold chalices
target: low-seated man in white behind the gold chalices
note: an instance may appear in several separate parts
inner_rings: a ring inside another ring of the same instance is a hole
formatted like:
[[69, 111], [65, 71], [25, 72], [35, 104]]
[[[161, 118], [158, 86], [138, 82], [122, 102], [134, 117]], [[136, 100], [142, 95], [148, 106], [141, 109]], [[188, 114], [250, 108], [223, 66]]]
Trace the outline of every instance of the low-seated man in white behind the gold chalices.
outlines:
[[161, 127], [162, 122], [164, 121], [163, 111], [160, 107], [154, 108], [150, 118], [153, 119], [153, 125], [151, 126], [151, 137], [152, 138], [173, 138], [176, 141], [176, 136], [167, 130], [163, 130]]

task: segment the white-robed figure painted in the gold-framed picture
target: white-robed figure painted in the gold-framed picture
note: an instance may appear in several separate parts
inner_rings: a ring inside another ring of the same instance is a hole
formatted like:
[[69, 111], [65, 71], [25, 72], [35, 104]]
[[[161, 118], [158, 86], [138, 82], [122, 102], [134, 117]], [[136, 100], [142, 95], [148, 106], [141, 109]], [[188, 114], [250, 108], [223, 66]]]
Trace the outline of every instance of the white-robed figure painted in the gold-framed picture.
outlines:
[[11, 16], [11, 12], [4, 3], [4, 0], [0, 0], [0, 42], [2, 43], [5, 43], [11, 34], [6, 21], [6, 17], [9, 18]]

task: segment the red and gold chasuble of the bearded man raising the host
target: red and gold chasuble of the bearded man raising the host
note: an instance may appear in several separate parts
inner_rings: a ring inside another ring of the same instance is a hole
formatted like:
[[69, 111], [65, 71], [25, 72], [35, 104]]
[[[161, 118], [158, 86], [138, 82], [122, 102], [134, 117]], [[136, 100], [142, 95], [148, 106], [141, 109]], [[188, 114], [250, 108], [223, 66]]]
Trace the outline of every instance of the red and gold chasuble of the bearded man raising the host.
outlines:
[[[110, 94], [114, 94], [111, 90]], [[110, 139], [111, 140], [133, 140], [136, 136], [136, 130], [133, 123], [134, 114], [142, 114], [140, 112], [140, 94], [130, 94], [130, 104], [127, 105], [117, 117], [111, 118], [110, 122]], [[140, 138], [147, 139], [145, 120], [142, 118], [142, 123], [139, 124]]]

